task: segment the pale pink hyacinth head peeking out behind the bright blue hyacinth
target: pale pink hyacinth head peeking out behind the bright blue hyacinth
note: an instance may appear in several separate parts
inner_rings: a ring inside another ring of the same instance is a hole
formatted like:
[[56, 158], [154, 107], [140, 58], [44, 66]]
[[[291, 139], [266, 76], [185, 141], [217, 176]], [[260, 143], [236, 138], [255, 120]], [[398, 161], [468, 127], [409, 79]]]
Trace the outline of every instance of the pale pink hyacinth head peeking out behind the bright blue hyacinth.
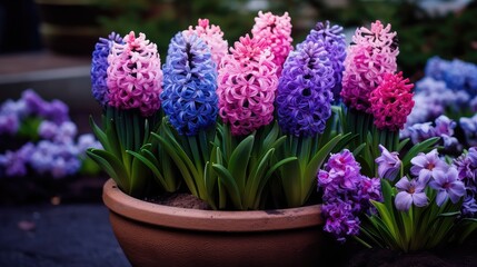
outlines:
[[208, 19], [199, 19], [198, 26], [195, 28], [189, 26], [189, 29], [185, 32], [189, 34], [196, 33], [209, 46], [212, 61], [216, 62], [218, 69], [221, 59], [227, 55], [228, 50], [228, 42], [223, 40], [223, 32], [220, 30], [220, 27], [209, 24]]

